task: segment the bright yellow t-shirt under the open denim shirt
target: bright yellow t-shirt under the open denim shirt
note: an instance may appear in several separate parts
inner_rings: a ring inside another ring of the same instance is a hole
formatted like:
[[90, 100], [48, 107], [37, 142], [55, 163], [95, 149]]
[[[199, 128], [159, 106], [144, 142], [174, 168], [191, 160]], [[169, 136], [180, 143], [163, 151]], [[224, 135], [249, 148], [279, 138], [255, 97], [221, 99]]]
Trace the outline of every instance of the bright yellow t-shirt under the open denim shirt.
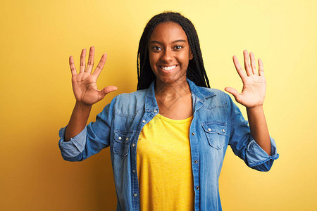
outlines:
[[189, 144], [192, 117], [171, 120], [156, 115], [137, 142], [141, 210], [194, 210]]

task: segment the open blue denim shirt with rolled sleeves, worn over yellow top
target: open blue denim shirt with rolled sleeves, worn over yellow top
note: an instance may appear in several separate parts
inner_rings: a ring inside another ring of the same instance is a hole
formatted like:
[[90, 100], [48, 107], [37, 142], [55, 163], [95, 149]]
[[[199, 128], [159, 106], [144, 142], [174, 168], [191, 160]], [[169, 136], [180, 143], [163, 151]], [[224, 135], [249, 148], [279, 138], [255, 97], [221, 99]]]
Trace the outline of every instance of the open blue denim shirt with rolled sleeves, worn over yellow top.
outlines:
[[[278, 158], [271, 139], [268, 155], [252, 139], [248, 122], [230, 96], [217, 89], [197, 87], [187, 79], [192, 92], [193, 119], [189, 129], [195, 210], [221, 210], [218, 179], [228, 145], [251, 168], [268, 171]], [[110, 146], [117, 210], [139, 210], [137, 141], [147, 122], [159, 113], [154, 82], [149, 89], [113, 98], [77, 136], [64, 141], [59, 132], [61, 155], [80, 161]]]

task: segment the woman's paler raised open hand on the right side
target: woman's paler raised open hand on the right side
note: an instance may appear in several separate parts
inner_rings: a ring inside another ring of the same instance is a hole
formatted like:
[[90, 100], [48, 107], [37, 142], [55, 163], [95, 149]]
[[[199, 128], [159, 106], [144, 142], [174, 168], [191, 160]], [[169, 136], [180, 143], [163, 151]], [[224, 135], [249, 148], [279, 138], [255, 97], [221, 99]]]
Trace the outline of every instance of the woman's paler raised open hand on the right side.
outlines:
[[266, 78], [264, 77], [262, 60], [260, 58], [258, 59], [259, 70], [256, 70], [254, 53], [251, 52], [249, 55], [248, 51], [244, 50], [243, 56], [245, 72], [237, 60], [237, 57], [233, 56], [235, 69], [243, 82], [242, 92], [239, 93], [237, 89], [232, 87], [225, 87], [225, 91], [232, 94], [238, 103], [247, 108], [262, 106], [266, 96]]

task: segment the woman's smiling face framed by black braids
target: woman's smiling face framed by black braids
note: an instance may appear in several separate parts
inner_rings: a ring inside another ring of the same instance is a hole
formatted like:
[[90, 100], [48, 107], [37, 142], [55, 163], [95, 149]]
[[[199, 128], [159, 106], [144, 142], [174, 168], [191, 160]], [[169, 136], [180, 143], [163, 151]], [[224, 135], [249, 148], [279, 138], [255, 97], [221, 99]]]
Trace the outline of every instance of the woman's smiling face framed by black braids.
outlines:
[[157, 25], [149, 39], [149, 62], [156, 75], [156, 84], [186, 81], [192, 53], [186, 33], [177, 23]]

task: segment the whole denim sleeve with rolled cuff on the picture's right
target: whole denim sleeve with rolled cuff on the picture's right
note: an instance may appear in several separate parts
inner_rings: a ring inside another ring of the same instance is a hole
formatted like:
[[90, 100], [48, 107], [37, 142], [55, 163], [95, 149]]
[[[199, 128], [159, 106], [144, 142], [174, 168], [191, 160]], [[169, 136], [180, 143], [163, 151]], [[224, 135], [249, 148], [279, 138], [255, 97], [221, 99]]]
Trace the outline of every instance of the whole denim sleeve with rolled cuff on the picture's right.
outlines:
[[231, 105], [231, 131], [229, 145], [233, 153], [239, 156], [244, 162], [254, 170], [267, 172], [271, 169], [274, 160], [279, 155], [276, 151], [274, 139], [271, 139], [271, 155], [268, 155], [251, 136], [248, 122], [244, 120], [240, 109], [232, 102]]

